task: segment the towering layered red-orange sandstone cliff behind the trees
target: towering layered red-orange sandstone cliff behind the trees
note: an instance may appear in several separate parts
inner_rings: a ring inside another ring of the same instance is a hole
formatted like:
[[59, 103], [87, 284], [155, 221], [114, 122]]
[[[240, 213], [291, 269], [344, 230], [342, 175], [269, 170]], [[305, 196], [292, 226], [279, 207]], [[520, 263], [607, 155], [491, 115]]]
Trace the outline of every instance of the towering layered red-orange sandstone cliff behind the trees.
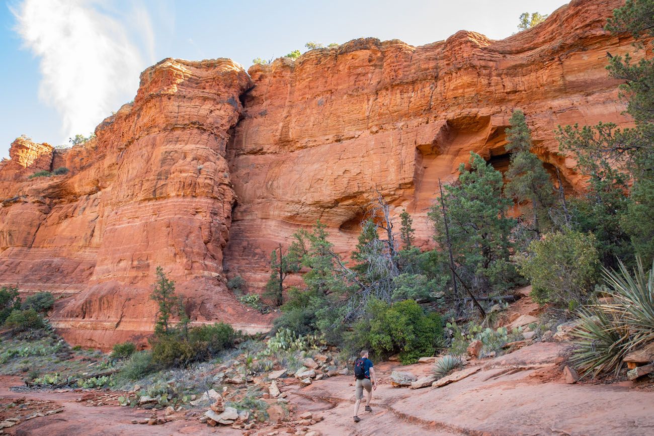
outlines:
[[[428, 243], [438, 179], [454, 178], [470, 151], [506, 165], [515, 108], [538, 156], [581, 189], [553, 131], [629, 123], [604, 69], [606, 52], [632, 51], [627, 35], [602, 29], [621, 3], [576, 0], [502, 41], [359, 39], [249, 74], [229, 59], [164, 59], [88, 143], [12, 144], [0, 163], [0, 284], [61, 293], [54, 324], [84, 345], [151, 331], [158, 265], [192, 320], [265, 328], [226, 278], [259, 290], [270, 251], [318, 218], [347, 254], [375, 189]], [[27, 178], [61, 166], [70, 172]]]

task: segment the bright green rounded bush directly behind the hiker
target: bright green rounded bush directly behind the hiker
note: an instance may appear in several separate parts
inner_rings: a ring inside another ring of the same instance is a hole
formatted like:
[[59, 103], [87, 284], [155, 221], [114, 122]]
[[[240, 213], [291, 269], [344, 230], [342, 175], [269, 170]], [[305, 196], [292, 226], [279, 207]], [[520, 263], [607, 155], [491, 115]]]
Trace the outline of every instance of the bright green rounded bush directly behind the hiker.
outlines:
[[400, 354], [403, 365], [434, 356], [443, 341], [443, 324], [435, 312], [425, 313], [413, 300], [387, 305], [371, 301], [368, 317], [354, 324], [351, 351], [367, 348], [376, 357]]

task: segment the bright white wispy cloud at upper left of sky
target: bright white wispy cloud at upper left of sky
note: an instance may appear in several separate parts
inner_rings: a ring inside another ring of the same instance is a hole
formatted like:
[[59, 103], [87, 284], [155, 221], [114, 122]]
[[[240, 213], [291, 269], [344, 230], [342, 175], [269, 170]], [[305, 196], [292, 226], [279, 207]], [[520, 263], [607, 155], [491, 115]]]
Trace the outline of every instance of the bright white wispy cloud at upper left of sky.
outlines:
[[[116, 17], [94, 1], [25, 0], [13, 12], [16, 31], [40, 59], [39, 97], [60, 112], [66, 137], [92, 132], [133, 98], [152, 62], [154, 33], [143, 7]], [[141, 24], [135, 29], [145, 56], [129, 22]]]

